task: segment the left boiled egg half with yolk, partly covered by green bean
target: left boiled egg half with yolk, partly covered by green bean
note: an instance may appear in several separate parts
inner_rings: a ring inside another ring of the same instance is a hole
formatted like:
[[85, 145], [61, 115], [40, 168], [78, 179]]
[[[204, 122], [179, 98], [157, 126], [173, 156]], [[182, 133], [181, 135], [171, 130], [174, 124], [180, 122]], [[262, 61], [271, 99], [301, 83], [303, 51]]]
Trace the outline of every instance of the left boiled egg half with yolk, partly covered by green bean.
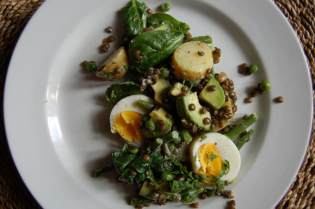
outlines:
[[141, 116], [149, 114], [150, 111], [138, 106], [138, 100], [154, 104], [153, 99], [141, 94], [125, 97], [113, 107], [109, 123], [112, 133], [118, 133], [132, 146], [141, 147], [145, 143], [145, 137], [140, 133]]

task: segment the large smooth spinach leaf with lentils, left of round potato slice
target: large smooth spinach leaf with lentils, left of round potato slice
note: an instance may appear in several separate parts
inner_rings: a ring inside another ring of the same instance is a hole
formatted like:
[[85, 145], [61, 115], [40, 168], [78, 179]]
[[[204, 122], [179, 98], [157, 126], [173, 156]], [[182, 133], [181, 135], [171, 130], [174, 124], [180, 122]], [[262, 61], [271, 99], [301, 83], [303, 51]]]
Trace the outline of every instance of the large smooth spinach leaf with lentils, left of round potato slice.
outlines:
[[[182, 44], [183, 39], [183, 33], [165, 30], [149, 30], [140, 33], [129, 43], [129, 64], [145, 72], [171, 55]], [[137, 60], [133, 55], [135, 50], [140, 51], [142, 60]]]

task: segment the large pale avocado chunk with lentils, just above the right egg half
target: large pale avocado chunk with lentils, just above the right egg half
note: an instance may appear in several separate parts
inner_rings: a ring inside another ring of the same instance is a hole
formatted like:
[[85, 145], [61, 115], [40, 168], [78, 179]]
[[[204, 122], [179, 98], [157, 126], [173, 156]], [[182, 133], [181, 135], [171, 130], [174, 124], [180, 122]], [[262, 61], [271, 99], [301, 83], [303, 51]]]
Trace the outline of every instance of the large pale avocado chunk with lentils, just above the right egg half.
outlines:
[[[194, 104], [194, 110], [191, 110], [189, 106]], [[211, 115], [209, 111], [202, 114], [201, 109], [203, 106], [199, 104], [197, 92], [187, 94], [184, 97], [179, 97], [176, 100], [177, 113], [181, 118], [185, 118], [188, 122], [191, 122], [203, 131], [211, 130], [211, 123], [205, 124], [205, 121], [211, 121]], [[208, 118], [208, 119], [206, 119]]]

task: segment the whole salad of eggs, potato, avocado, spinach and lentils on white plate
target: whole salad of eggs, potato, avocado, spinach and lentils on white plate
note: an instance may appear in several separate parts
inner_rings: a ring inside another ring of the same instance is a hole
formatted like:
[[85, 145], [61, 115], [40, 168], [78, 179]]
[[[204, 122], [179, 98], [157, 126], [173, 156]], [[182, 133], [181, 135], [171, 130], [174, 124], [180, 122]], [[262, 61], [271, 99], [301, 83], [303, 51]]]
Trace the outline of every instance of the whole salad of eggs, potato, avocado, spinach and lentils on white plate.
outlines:
[[[162, 10], [170, 5], [162, 4]], [[221, 49], [210, 35], [192, 36], [187, 23], [154, 13], [144, 2], [131, 0], [122, 11], [121, 47], [100, 66], [83, 63], [107, 80], [128, 75], [105, 91], [114, 104], [108, 128], [126, 143], [111, 154], [111, 163], [95, 170], [95, 177], [116, 170], [119, 181], [135, 185], [130, 204], [137, 208], [168, 202], [198, 208], [198, 199], [214, 195], [233, 199], [226, 188], [236, 181], [239, 150], [258, 117], [245, 115], [231, 125], [237, 95], [233, 80], [215, 70]], [[104, 52], [113, 41], [111, 36], [103, 40]], [[229, 207], [235, 207], [234, 200]]]

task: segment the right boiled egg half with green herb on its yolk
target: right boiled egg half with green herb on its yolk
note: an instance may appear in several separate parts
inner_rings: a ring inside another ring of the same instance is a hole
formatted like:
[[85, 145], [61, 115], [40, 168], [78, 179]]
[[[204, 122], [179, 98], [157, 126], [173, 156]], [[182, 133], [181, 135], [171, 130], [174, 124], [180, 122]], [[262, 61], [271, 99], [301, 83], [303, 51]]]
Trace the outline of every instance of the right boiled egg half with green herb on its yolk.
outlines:
[[[229, 162], [229, 172], [221, 177], [222, 181], [232, 182], [239, 172], [241, 156], [234, 142], [221, 133], [209, 132], [193, 139], [189, 147], [189, 158], [194, 172], [217, 177], [224, 160]], [[213, 188], [213, 183], [205, 180], [206, 188]]]

